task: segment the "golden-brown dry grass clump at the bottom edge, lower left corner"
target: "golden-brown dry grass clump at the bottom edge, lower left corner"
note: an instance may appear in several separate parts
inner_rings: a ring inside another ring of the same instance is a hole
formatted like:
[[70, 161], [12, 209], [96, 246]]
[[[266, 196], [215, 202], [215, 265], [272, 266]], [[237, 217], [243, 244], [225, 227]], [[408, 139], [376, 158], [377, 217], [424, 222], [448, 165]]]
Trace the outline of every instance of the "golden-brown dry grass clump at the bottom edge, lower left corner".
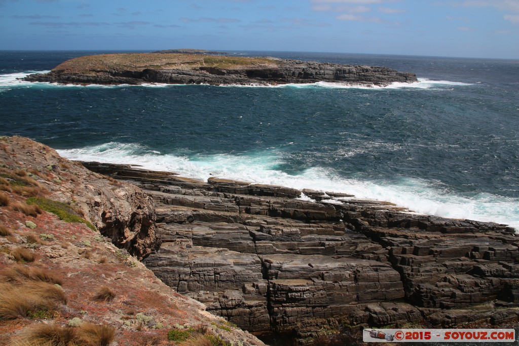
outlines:
[[115, 330], [107, 325], [84, 323], [77, 328], [57, 324], [38, 324], [23, 331], [13, 346], [107, 346], [115, 338]]

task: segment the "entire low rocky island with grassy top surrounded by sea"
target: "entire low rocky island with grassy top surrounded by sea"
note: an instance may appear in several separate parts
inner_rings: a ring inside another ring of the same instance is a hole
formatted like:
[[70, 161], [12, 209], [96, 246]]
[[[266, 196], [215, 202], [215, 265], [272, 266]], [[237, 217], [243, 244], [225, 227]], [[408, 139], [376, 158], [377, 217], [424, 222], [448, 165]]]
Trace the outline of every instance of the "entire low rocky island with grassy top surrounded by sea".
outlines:
[[387, 86], [392, 82], [417, 81], [414, 73], [398, 72], [388, 67], [180, 53], [86, 56], [65, 61], [49, 73], [33, 74], [23, 79], [101, 85], [280, 85], [327, 81]]

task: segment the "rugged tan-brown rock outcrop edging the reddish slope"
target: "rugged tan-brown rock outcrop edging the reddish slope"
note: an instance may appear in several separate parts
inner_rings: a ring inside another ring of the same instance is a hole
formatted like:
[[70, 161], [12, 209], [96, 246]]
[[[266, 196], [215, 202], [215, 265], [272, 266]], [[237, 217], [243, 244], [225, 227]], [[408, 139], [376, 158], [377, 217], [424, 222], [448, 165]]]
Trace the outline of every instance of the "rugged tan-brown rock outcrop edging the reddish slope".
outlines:
[[75, 206], [116, 246], [140, 259], [160, 246], [153, 201], [141, 189], [92, 173], [30, 139], [2, 138], [0, 162], [39, 171], [46, 179], [45, 197]]

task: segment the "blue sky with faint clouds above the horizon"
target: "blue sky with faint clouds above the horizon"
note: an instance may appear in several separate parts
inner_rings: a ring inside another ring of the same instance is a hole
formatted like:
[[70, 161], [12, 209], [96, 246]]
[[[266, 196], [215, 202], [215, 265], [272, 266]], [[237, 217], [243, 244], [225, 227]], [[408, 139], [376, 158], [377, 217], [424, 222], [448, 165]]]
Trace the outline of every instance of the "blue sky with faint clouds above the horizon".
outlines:
[[519, 0], [0, 0], [0, 49], [519, 59]]

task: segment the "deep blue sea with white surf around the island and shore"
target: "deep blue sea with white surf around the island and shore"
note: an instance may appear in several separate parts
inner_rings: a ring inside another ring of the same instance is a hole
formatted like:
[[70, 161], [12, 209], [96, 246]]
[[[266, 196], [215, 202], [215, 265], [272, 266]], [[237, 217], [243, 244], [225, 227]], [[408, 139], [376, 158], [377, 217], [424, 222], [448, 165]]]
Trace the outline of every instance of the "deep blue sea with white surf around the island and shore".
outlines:
[[519, 60], [236, 52], [389, 66], [419, 78], [385, 88], [16, 79], [97, 53], [0, 51], [0, 134], [70, 159], [347, 192], [519, 229]]

